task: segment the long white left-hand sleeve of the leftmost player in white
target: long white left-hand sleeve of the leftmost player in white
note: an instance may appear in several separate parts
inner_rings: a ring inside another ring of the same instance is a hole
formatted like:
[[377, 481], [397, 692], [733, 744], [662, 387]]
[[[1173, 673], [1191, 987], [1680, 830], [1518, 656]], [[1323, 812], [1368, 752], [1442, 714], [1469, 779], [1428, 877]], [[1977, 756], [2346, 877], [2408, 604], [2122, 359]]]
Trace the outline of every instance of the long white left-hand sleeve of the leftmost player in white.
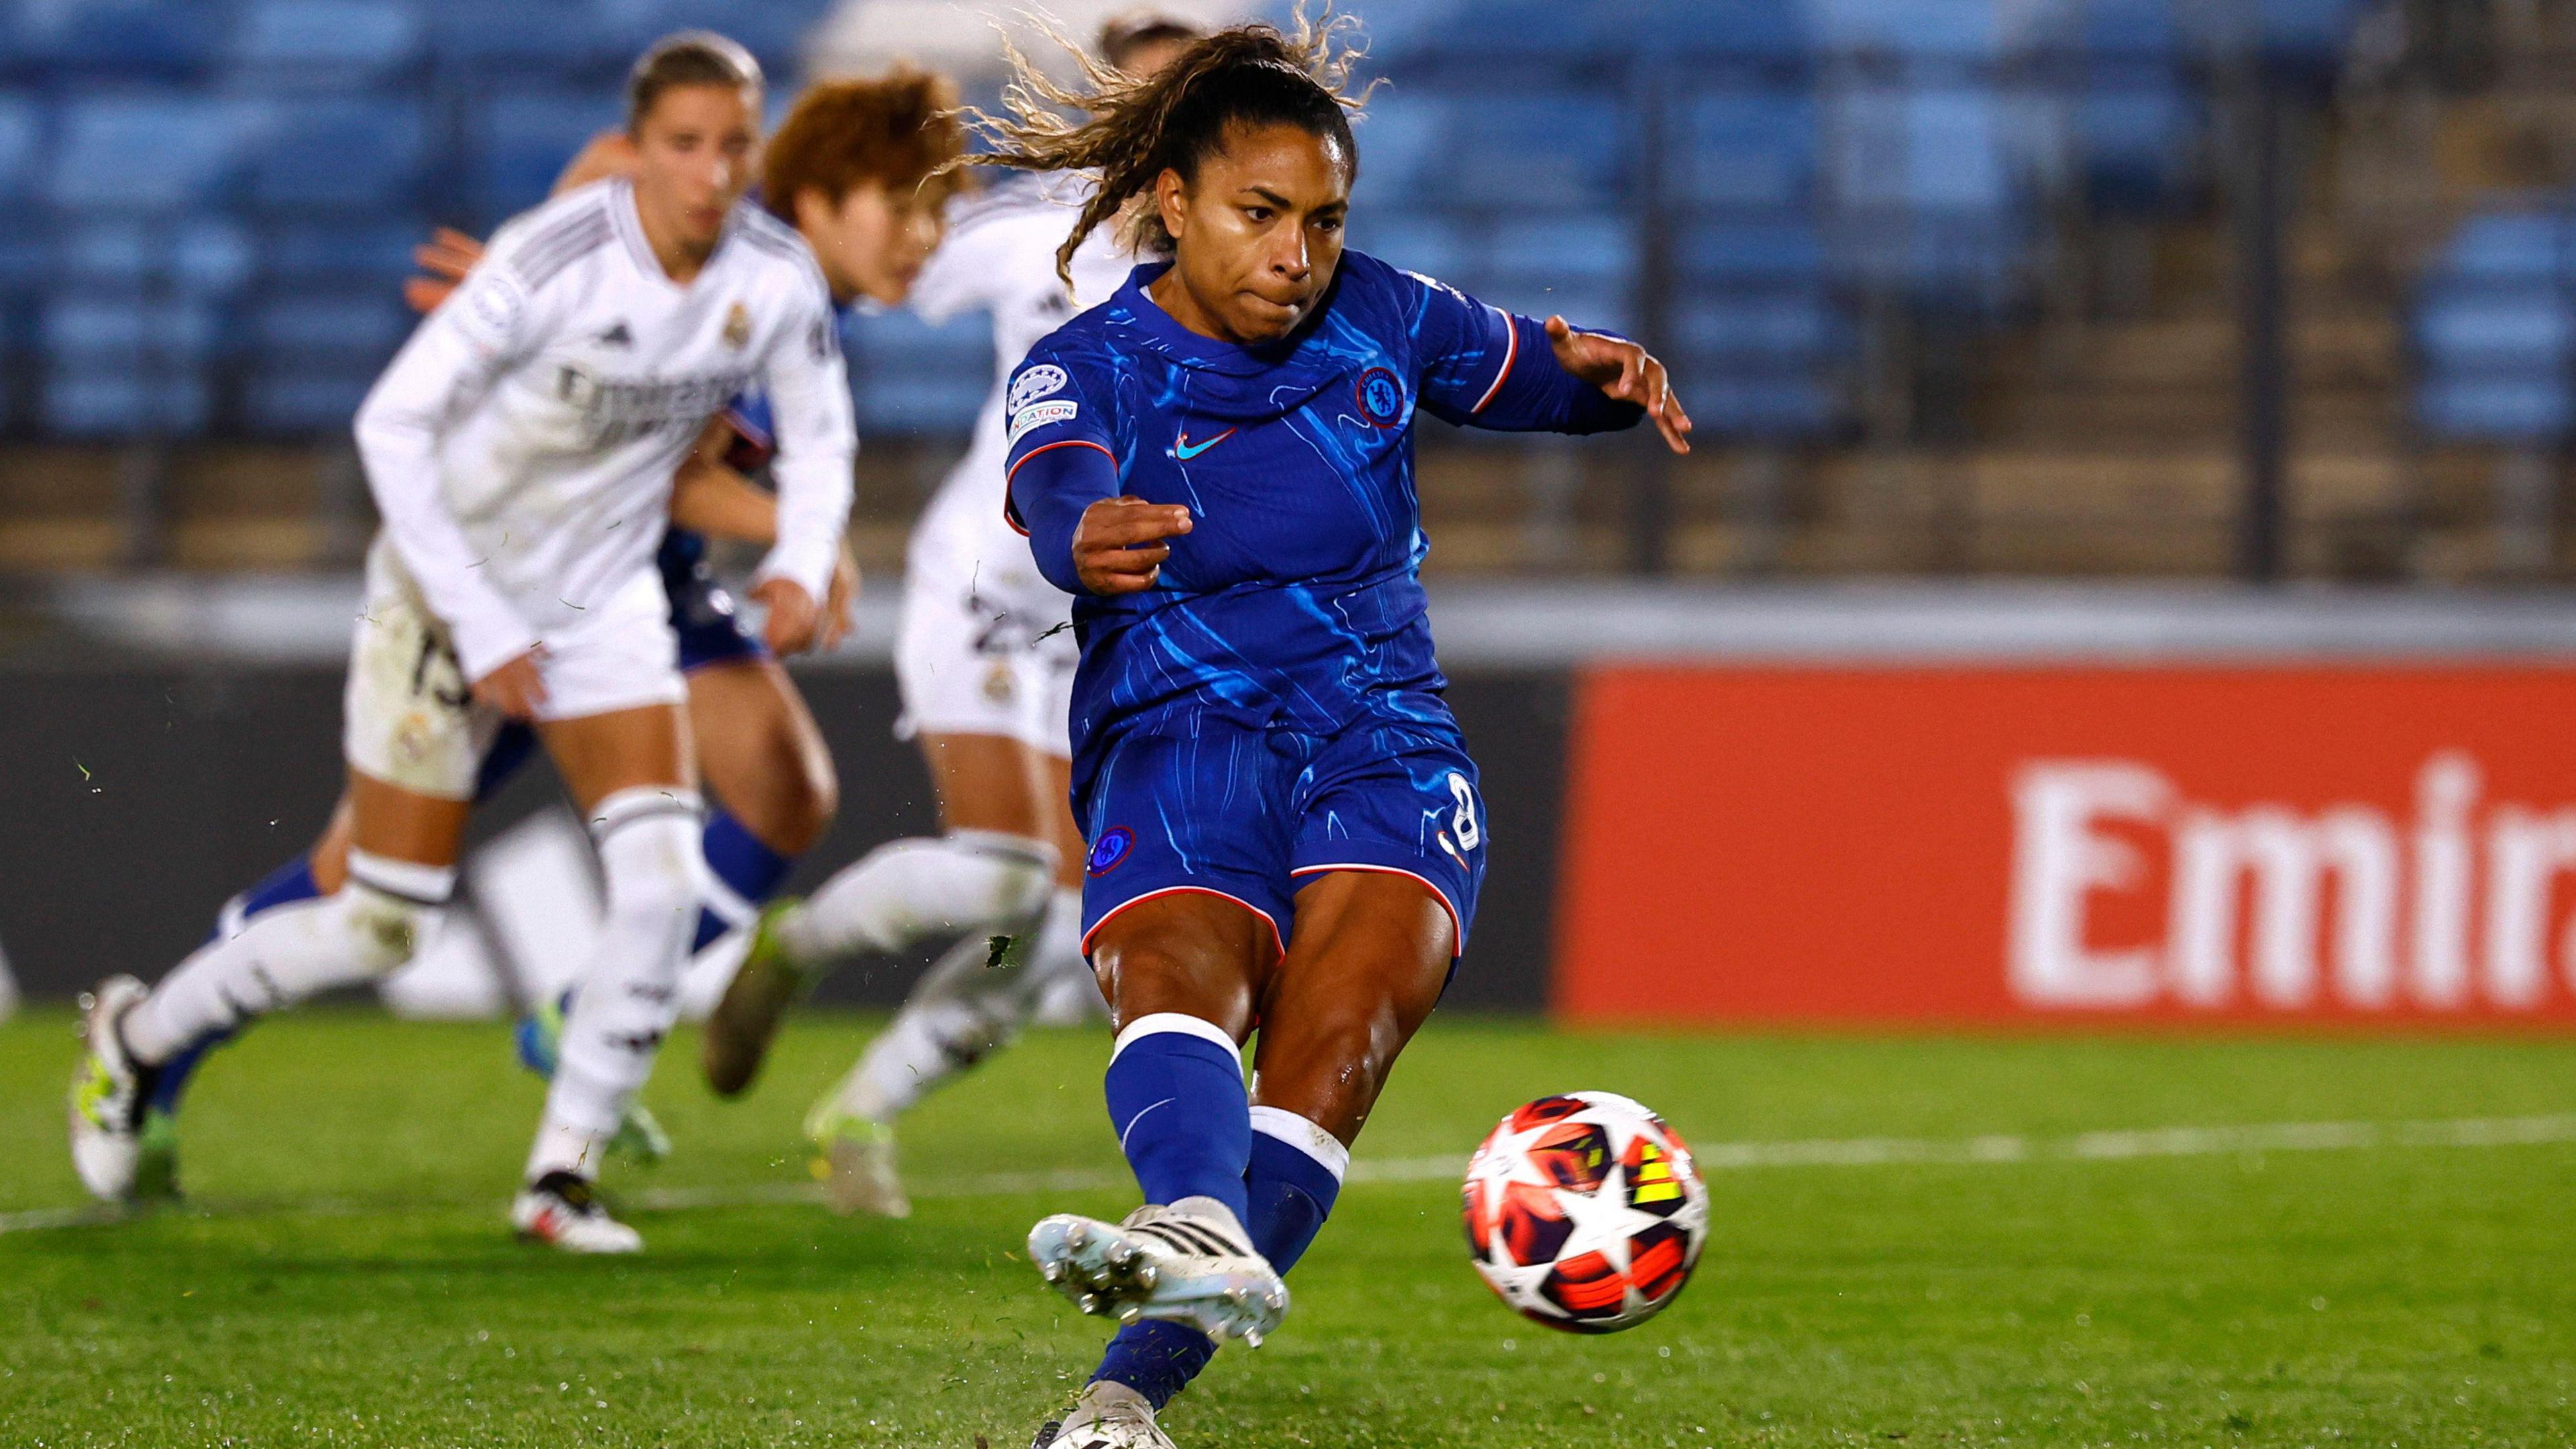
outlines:
[[446, 621], [469, 681], [528, 652], [538, 637], [479, 572], [482, 559], [438, 482], [438, 438], [533, 353], [541, 333], [538, 297], [507, 253], [495, 250], [412, 330], [358, 405], [358, 462], [376, 513], [430, 611]]

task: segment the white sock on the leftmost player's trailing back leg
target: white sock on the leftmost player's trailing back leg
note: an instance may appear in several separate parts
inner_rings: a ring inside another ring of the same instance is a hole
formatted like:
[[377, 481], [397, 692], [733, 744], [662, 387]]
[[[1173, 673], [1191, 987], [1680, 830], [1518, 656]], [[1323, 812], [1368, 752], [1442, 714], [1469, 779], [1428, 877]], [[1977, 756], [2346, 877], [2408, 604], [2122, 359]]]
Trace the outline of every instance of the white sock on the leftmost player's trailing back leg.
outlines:
[[428, 923], [456, 890], [456, 871], [348, 853], [337, 892], [263, 910], [180, 962], [124, 1018], [126, 1049], [157, 1065], [191, 1042], [234, 1031], [340, 985], [358, 985], [412, 959]]

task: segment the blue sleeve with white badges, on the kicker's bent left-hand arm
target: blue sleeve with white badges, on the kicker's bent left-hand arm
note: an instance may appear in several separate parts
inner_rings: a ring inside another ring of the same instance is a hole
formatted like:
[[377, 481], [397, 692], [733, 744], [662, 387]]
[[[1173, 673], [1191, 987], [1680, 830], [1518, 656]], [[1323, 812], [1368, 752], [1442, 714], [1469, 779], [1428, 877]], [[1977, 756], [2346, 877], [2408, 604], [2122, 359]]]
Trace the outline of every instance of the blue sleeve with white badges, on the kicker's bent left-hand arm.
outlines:
[[1113, 379], [1097, 361], [1038, 343], [1010, 374], [1010, 462], [1002, 516], [1028, 536], [1038, 572], [1082, 593], [1074, 526], [1082, 511], [1118, 495], [1118, 438], [1105, 402]]

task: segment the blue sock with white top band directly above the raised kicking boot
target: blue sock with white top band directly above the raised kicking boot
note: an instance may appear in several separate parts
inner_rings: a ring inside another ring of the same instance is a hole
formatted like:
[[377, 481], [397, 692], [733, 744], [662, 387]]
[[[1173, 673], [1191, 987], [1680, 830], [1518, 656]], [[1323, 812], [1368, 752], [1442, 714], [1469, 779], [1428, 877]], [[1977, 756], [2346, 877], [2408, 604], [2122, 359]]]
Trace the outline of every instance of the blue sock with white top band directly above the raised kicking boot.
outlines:
[[1242, 1222], [1252, 1160], [1244, 1060], [1216, 1026], [1154, 1013], [1118, 1034], [1108, 1080], [1110, 1127], [1146, 1201], [1213, 1196]]

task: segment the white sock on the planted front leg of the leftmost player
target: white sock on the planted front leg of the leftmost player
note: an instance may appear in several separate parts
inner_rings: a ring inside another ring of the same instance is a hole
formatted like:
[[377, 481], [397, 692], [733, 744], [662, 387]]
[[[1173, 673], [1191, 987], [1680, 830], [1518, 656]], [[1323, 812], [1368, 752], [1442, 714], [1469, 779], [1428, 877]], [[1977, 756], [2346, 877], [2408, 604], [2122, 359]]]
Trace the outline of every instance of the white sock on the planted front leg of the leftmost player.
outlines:
[[598, 1147], [652, 1075], [680, 1013], [680, 969], [698, 926], [698, 797], [677, 786], [621, 789], [590, 812], [608, 913], [577, 977], [528, 1181], [598, 1173]]

